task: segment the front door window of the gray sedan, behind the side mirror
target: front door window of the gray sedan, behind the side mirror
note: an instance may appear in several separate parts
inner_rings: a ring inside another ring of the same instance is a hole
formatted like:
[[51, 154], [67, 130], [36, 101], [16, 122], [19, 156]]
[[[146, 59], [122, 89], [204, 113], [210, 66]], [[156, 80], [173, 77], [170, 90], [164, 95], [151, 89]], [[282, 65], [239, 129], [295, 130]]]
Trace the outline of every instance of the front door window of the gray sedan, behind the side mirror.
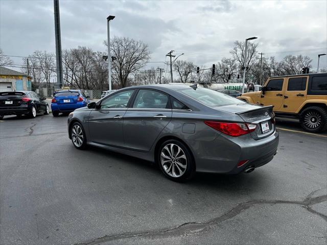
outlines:
[[134, 92], [134, 89], [122, 91], [120, 93], [113, 94], [106, 99], [104, 99], [100, 108], [127, 108], [127, 104]]

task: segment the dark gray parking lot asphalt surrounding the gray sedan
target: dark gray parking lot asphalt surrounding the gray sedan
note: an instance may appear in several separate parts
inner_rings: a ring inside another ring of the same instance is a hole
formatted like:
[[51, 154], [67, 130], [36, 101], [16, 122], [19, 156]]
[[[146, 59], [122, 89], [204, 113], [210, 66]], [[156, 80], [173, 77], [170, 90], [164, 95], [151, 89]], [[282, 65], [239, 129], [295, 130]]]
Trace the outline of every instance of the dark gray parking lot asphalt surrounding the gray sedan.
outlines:
[[0, 121], [1, 244], [327, 242], [326, 134], [277, 120], [270, 163], [175, 183], [150, 162], [75, 149], [66, 121]]

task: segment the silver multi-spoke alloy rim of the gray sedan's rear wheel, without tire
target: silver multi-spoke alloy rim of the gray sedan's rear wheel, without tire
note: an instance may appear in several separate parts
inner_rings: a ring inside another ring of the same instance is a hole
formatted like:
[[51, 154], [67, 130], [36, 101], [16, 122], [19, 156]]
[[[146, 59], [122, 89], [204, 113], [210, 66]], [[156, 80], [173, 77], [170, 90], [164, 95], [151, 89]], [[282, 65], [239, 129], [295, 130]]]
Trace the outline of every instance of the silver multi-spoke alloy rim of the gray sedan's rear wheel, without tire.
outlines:
[[165, 172], [174, 178], [181, 177], [188, 166], [184, 151], [174, 143], [169, 143], [162, 148], [160, 162]]

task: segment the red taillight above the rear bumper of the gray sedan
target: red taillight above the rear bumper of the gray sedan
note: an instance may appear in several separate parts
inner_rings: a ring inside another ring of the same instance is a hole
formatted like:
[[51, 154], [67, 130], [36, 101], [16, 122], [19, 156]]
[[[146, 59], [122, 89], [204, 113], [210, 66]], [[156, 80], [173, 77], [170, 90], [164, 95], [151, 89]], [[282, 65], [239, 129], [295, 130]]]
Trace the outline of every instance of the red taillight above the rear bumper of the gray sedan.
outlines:
[[233, 137], [251, 133], [256, 128], [254, 124], [238, 124], [236, 122], [204, 121], [204, 123], [213, 129]]

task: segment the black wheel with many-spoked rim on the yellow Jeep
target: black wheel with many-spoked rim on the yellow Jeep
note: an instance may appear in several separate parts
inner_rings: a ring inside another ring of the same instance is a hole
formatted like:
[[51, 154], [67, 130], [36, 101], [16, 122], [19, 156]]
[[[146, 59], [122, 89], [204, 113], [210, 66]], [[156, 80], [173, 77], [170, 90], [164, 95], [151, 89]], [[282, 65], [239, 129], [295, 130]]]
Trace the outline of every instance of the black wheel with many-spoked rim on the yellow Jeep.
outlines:
[[327, 111], [319, 106], [310, 106], [300, 114], [300, 124], [308, 132], [317, 133], [327, 130]]

